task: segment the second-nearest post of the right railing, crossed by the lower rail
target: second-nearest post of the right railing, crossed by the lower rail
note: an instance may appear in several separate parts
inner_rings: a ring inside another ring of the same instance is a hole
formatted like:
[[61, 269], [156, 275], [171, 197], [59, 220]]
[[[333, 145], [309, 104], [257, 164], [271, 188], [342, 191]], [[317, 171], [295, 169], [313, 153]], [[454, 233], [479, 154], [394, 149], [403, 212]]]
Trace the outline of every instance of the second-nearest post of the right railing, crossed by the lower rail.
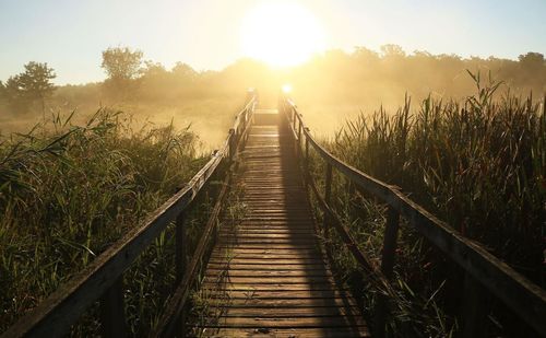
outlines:
[[[383, 236], [383, 253], [381, 257], [381, 272], [387, 277], [387, 282], [392, 279], [394, 267], [394, 254], [396, 252], [396, 238], [399, 233], [400, 213], [399, 211], [389, 206], [387, 211], [387, 224]], [[376, 304], [376, 325], [375, 336], [384, 337], [384, 326], [387, 320], [387, 305], [388, 298], [380, 294]]]

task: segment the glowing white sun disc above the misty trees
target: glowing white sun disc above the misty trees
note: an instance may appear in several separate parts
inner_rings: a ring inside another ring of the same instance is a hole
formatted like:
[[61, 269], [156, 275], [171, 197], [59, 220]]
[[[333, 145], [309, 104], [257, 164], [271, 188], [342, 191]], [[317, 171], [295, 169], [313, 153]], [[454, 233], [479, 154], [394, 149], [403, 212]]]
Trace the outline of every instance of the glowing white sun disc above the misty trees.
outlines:
[[251, 9], [241, 25], [245, 56], [273, 67], [307, 61], [324, 49], [324, 34], [313, 14], [297, 3], [269, 2]]

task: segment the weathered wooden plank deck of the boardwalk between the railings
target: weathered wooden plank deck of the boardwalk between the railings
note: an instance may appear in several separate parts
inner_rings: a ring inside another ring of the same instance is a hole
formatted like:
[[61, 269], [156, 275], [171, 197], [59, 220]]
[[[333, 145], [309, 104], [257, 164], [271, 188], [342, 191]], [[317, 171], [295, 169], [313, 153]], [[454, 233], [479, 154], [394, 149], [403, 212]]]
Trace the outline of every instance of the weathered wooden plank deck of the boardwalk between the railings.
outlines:
[[318, 245], [284, 119], [256, 112], [234, 184], [244, 211], [235, 222], [224, 215], [201, 289], [209, 318], [200, 328], [213, 337], [368, 336]]

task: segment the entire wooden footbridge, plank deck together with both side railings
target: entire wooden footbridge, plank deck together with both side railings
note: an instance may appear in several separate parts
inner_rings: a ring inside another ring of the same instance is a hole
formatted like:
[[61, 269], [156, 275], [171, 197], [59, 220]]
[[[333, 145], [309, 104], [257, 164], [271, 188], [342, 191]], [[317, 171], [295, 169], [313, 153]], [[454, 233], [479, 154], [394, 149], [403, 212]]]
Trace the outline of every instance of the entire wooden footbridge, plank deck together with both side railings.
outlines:
[[[322, 245], [331, 249], [329, 245], [337, 241], [363, 273], [380, 285], [372, 290], [375, 307], [367, 312], [373, 317], [367, 319], [372, 320], [373, 336], [384, 337], [394, 307], [391, 299], [397, 292], [393, 277], [400, 226], [411, 226], [464, 273], [458, 318], [461, 337], [486, 336], [491, 299], [536, 336], [546, 337], [546, 291], [397, 187], [335, 158], [317, 142], [288, 97], [281, 97], [278, 110], [257, 109], [257, 103], [250, 92], [224, 145], [186, 187], [0, 338], [62, 337], [83, 317], [99, 324], [103, 337], [129, 336], [124, 272], [165, 234], [175, 240], [176, 280], [164, 306], [158, 303], [157, 323], [138, 336], [188, 337], [199, 331], [209, 337], [369, 336], [357, 303], [335, 282], [322, 249]], [[313, 173], [311, 161], [321, 163], [324, 171]], [[354, 188], [352, 194], [387, 207], [380, 261], [367, 256], [365, 244], [354, 240], [335, 212], [334, 171]], [[320, 187], [317, 175], [323, 175]], [[201, 233], [189, 252], [187, 218], [203, 196], [214, 206], [206, 223], [199, 224]], [[229, 206], [242, 208], [232, 212]], [[312, 212], [317, 208], [320, 212]], [[322, 214], [320, 222], [316, 214]], [[193, 299], [193, 305], [201, 306], [199, 315], [188, 311], [191, 292], [203, 301], [199, 304]]]

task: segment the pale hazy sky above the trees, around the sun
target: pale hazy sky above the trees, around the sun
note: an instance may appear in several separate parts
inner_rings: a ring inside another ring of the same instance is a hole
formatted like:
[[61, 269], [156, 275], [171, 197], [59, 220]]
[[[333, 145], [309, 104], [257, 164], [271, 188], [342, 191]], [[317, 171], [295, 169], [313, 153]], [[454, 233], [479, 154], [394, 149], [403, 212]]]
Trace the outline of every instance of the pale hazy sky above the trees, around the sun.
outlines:
[[[59, 84], [99, 81], [109, 46], [139, 48], [168, 68], [221, 69], [241, 57], [241, 22], [261, 2], [274, 1], [0, 0], [0, 80], [34, 60], [48, 62]], [[313, 14], [328, 48], [397, 44], [408, 53], [512, 59], [546, 53], [546, 0], [288, 2]]]

